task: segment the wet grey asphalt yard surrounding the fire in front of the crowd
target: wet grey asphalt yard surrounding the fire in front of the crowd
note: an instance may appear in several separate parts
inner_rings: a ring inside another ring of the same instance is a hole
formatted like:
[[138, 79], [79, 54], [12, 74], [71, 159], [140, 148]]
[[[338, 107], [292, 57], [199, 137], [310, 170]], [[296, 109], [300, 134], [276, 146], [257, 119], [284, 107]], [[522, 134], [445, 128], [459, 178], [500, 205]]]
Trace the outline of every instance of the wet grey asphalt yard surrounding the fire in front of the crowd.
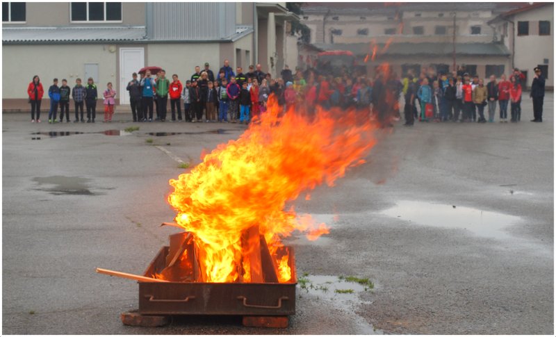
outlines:
[[398, 122], [368, 163], [294, 202], [330, 233], [286, 240], [302, 281], [283, 330], [236, 317], [126, 327], [137, 283], [95, 274], [141, 274], [176, 231], [160, 227], [174, 157], [195, 165], [245, 126], [4, 114], [3, 333], [553, 334], [553, 94], [544, 111], [542, 124], [525, 122], [528, 100], [519, 124]]

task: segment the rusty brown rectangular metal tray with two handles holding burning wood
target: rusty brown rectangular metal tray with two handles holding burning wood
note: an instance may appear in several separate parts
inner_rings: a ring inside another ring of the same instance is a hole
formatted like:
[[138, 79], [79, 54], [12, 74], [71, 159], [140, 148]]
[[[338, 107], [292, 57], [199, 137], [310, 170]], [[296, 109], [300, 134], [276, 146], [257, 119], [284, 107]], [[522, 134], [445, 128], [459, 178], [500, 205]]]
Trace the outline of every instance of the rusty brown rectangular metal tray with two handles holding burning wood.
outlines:
[[[143, 315], [256, 315], [295, 314], [295, 258], [292, 247], [288, 283], [139, 282], [139, 313]], [[170, 247], [163, 247], [145, 270], [152, 277], [166, 266]]]

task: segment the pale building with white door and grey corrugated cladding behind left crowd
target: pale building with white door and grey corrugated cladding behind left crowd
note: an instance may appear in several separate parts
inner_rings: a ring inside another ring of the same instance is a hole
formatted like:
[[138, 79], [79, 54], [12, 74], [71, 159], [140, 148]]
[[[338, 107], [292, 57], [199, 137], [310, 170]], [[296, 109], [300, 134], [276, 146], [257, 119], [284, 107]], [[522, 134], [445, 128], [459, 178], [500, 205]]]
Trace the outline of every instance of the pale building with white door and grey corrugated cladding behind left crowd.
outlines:
[[[26, 88], [35, 74], [45, 90], [55, 77], [73, 85], [91, 76], [128, 104], [131, 74], [146, 65], [189, 79], [208, 62], [217, 76], [231, 67], [261, 63], [279, 74], [297, 61], [289, 48], [286, 3], [3, 2], [3, 111], [28, 110]], [[289, 54], [289, 55], [288, 55]], [[47, 96], [45, 95], [45, 100]], [[43, 104], [44, 106], [44, 104]]]

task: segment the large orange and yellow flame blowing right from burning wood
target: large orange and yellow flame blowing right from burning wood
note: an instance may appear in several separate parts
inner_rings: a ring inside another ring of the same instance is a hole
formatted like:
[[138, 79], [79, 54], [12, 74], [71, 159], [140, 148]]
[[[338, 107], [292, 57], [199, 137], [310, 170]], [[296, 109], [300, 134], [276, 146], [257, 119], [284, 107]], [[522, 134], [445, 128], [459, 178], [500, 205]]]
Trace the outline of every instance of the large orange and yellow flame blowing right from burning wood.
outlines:
[[279, 281], [289, 281], [281, 238], [299, 230], [316, 240], [328, 228], [297, 217], [293, 206], [286, 211], [286, 204], [322, 183], [332, 186], [348, 167], [363, 163], [375, 129], [368, 110], [307, 113], [298, 105], [284, 113], [271, 96], [268, 111], [238, 140], [218, 145], [189, 173], [171, 179], [168, 202], [175, 222], [195, 236], [203, 280], [250, 281], [242, 235], [258, 227]]

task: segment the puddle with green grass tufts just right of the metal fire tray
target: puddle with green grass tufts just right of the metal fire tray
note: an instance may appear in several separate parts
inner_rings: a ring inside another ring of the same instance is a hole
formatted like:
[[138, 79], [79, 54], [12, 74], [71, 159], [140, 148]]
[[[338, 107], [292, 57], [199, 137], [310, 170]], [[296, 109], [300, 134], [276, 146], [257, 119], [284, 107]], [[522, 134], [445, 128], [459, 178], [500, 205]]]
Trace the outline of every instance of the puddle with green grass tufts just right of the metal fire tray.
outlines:
[[[359, 330], [357, 334], [384, 334], [381, 330], [375, 330], [364, 318], [357, 315], [357, 307], [370, 302], [361, 299], [359, 294], [373, 291], [368, 286], [356, 282], [349, 282], [336, 276], [306, 275], [297, 279], [300, 288], [298, 294], [303, 298], [310, 294], [318, 301], [327, 302], [330, 306], [344, 311], [349, 315]], [[352, 291], [351, 293], [350, 290]], [[339, 293], [338, 293], [339, 292]]]

